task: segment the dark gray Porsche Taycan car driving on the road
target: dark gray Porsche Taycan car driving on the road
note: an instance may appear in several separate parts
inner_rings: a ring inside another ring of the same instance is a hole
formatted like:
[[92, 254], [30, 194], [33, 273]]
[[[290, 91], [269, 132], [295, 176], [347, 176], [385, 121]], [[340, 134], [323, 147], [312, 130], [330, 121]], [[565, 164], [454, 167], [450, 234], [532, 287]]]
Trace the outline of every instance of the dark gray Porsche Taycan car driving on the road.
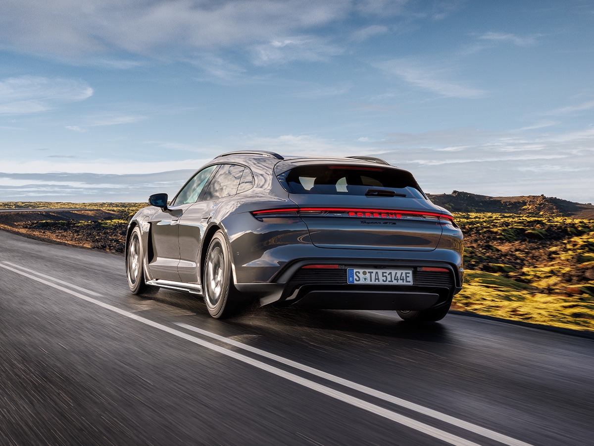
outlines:
[[462, 287], [453, 216], [378, 158], [225, 153], [149, 203], [128, 225], [130, 290], [189, 291], [214, 318], [258, 301], [438, 321]]

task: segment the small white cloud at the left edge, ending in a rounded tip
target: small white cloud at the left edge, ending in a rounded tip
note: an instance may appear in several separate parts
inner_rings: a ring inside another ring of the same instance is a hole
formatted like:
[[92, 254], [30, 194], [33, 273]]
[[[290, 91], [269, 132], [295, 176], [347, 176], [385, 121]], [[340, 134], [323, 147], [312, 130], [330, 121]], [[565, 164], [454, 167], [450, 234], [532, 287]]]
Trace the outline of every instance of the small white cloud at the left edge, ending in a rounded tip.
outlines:
[[39, 76], [0, 80], [0, 114], [27, 114], [90, 98], [93, 89], [84, 81]]

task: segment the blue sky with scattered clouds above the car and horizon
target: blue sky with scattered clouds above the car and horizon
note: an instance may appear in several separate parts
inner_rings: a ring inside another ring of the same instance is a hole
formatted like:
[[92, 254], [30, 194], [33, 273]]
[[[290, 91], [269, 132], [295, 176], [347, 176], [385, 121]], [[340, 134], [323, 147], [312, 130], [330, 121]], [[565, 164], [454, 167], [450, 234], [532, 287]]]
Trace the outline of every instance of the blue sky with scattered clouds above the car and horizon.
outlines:
[[592, 1], [0, 5], [0, 201], [144, 202], [273, 150], [594, 202]]

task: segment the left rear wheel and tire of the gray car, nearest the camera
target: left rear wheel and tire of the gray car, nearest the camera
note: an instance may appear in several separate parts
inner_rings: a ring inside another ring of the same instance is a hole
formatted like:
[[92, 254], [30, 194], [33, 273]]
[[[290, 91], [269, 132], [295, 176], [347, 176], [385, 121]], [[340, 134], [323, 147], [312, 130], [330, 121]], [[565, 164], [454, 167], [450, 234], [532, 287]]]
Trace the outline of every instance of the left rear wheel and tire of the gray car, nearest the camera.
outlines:
[[229, 244], [220, 230], [208, 244], [202, 284], [204, 302], [213, 318], [226, 318], [238, 312], [241, 296], [233, 285]]

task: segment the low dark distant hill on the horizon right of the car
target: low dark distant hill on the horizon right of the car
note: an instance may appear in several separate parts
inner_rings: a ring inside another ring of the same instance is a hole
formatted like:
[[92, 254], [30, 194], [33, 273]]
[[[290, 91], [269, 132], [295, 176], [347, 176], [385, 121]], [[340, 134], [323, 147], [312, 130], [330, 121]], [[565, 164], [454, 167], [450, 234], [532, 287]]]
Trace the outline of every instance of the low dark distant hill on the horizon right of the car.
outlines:
[[451, 212], [499, 212], [541, 214], [594, 219], [592, 203], [574, 203], [556, 197], [527, 195], [519, 197], [489, 197], [454, 190], [451, 194], [427, 194], [438, 206]]

